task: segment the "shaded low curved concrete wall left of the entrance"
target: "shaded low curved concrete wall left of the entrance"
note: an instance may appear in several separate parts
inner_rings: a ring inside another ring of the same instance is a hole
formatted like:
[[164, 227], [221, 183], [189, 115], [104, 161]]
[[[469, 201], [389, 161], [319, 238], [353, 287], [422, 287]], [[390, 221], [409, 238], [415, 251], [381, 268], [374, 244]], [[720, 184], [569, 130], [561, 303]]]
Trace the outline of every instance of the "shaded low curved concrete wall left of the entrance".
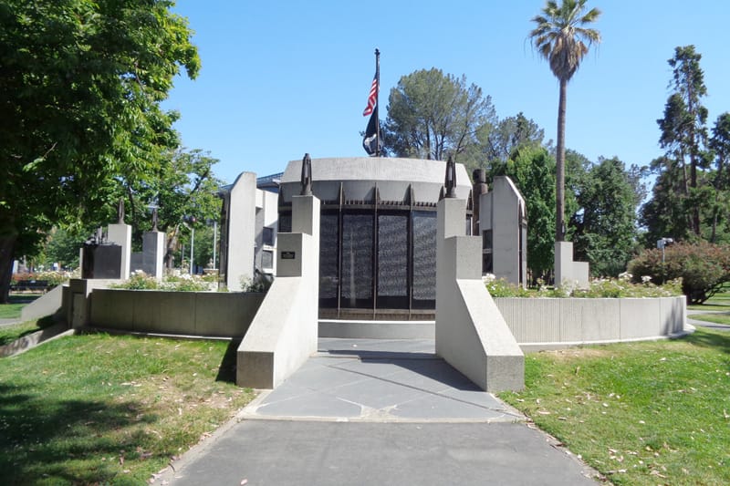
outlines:
[[265, 294], [94, 289], [89, 326], [141, 333], [243, 337]]

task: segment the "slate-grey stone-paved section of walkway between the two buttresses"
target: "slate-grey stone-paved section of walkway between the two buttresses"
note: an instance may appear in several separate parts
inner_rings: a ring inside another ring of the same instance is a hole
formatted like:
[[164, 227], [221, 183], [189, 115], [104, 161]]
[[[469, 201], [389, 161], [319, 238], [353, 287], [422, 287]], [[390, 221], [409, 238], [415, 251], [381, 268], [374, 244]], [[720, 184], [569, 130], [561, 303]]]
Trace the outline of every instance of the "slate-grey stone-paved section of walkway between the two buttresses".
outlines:
[[318, 354], [245, 408], [241, 419], [514, 422], [524, 417], [481, 391], [422, 340], [320, 339]]

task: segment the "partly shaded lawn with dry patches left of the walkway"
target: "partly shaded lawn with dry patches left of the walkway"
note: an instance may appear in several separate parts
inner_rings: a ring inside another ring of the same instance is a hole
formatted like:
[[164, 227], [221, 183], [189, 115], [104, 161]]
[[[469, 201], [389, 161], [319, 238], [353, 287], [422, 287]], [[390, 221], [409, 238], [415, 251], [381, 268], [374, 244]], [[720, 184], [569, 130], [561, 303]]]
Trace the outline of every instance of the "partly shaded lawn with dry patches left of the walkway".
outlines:
[[5, 484], [143, 484], [253, 397], [235, 345], [69, 336], [0, 360]]

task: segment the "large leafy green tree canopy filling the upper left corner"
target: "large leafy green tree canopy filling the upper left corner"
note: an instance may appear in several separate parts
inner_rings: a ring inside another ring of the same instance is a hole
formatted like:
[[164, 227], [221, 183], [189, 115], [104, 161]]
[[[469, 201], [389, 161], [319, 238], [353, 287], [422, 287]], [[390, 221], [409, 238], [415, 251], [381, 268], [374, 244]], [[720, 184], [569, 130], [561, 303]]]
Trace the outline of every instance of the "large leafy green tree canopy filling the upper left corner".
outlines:
[[160, 102], [200, 67], [169, 0], [0, 0], [0, 302], [14, 256], [177, 145]]

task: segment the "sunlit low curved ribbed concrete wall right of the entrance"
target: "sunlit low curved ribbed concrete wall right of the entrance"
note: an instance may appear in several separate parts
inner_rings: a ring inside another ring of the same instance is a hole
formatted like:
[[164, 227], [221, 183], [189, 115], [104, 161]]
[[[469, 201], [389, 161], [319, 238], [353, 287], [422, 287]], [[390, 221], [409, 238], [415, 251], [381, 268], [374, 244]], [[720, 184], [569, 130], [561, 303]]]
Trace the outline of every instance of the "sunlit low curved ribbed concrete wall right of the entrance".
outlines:
[[527, 350], [631, 341], [683, 332], [684, 296], [620, 299], [496, 297], [517, 343]]

